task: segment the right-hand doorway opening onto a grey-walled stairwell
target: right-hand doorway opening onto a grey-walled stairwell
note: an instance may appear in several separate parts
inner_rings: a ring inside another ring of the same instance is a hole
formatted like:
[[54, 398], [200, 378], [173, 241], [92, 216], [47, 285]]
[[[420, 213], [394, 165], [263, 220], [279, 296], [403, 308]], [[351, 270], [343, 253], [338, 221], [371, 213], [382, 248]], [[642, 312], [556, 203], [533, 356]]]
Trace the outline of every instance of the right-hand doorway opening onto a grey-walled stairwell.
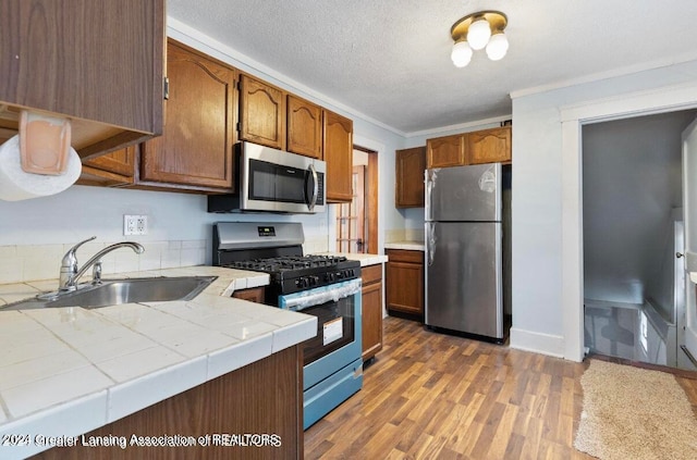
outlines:
[[680, 366], [686, 110], [583, 126], [584, 343]]

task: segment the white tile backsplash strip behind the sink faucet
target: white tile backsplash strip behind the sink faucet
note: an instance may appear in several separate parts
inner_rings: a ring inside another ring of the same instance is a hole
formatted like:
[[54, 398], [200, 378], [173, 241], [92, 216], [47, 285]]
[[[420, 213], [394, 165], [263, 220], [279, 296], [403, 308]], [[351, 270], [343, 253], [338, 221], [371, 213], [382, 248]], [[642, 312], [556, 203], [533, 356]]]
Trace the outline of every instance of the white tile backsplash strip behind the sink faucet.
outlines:
[[[80, 247], [77, 260], [84, 263], [105, 247], [117, 241], [89, 241]], [[61, 259], [73, 243], [56, 245], [0, 246], [0, 284], [26, 283], [58, 278]], [[145, 252], [118, 249], [102, 258], [103, 275], [143, 270], [174, 269], [206, 263], [206, 240], [172, 240], [143, 243]], [[89, 279], [91, 270], [85, 273]]]

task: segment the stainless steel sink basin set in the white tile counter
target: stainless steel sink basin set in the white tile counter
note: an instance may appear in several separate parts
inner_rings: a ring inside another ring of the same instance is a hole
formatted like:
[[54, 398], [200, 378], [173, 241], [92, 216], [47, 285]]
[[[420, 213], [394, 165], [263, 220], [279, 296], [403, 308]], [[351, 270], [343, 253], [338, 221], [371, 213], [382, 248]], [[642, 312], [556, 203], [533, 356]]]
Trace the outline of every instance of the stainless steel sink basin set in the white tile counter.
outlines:
[[47, 307], [98, 308], [121, 303], [191, 300], [217, 276], [174, 276], [157, 278], [103, 279], [97, 285], [83, 285], [72, 293], [41, 299], [34, 297], [10, 303], [3, 310], [25, 310]]

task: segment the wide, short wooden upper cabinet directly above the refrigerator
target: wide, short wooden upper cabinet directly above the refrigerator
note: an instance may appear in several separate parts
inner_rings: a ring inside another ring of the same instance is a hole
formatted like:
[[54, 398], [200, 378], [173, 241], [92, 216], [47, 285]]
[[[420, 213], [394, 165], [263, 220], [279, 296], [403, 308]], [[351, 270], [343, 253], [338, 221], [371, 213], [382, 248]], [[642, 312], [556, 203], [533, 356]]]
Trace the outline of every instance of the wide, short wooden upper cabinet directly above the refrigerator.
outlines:
[[511, 162], [511, 126], [426, 140], [427, 167]]

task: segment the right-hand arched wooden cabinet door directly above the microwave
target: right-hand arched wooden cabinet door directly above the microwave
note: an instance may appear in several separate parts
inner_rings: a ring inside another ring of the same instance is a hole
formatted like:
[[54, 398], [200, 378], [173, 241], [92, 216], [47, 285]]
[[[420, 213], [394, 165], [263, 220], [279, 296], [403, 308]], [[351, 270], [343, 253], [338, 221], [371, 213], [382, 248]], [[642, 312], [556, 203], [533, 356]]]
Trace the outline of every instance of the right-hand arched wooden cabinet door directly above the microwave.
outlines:
[[288, 151], [322, 159], [322, 108], [288, 95]]

